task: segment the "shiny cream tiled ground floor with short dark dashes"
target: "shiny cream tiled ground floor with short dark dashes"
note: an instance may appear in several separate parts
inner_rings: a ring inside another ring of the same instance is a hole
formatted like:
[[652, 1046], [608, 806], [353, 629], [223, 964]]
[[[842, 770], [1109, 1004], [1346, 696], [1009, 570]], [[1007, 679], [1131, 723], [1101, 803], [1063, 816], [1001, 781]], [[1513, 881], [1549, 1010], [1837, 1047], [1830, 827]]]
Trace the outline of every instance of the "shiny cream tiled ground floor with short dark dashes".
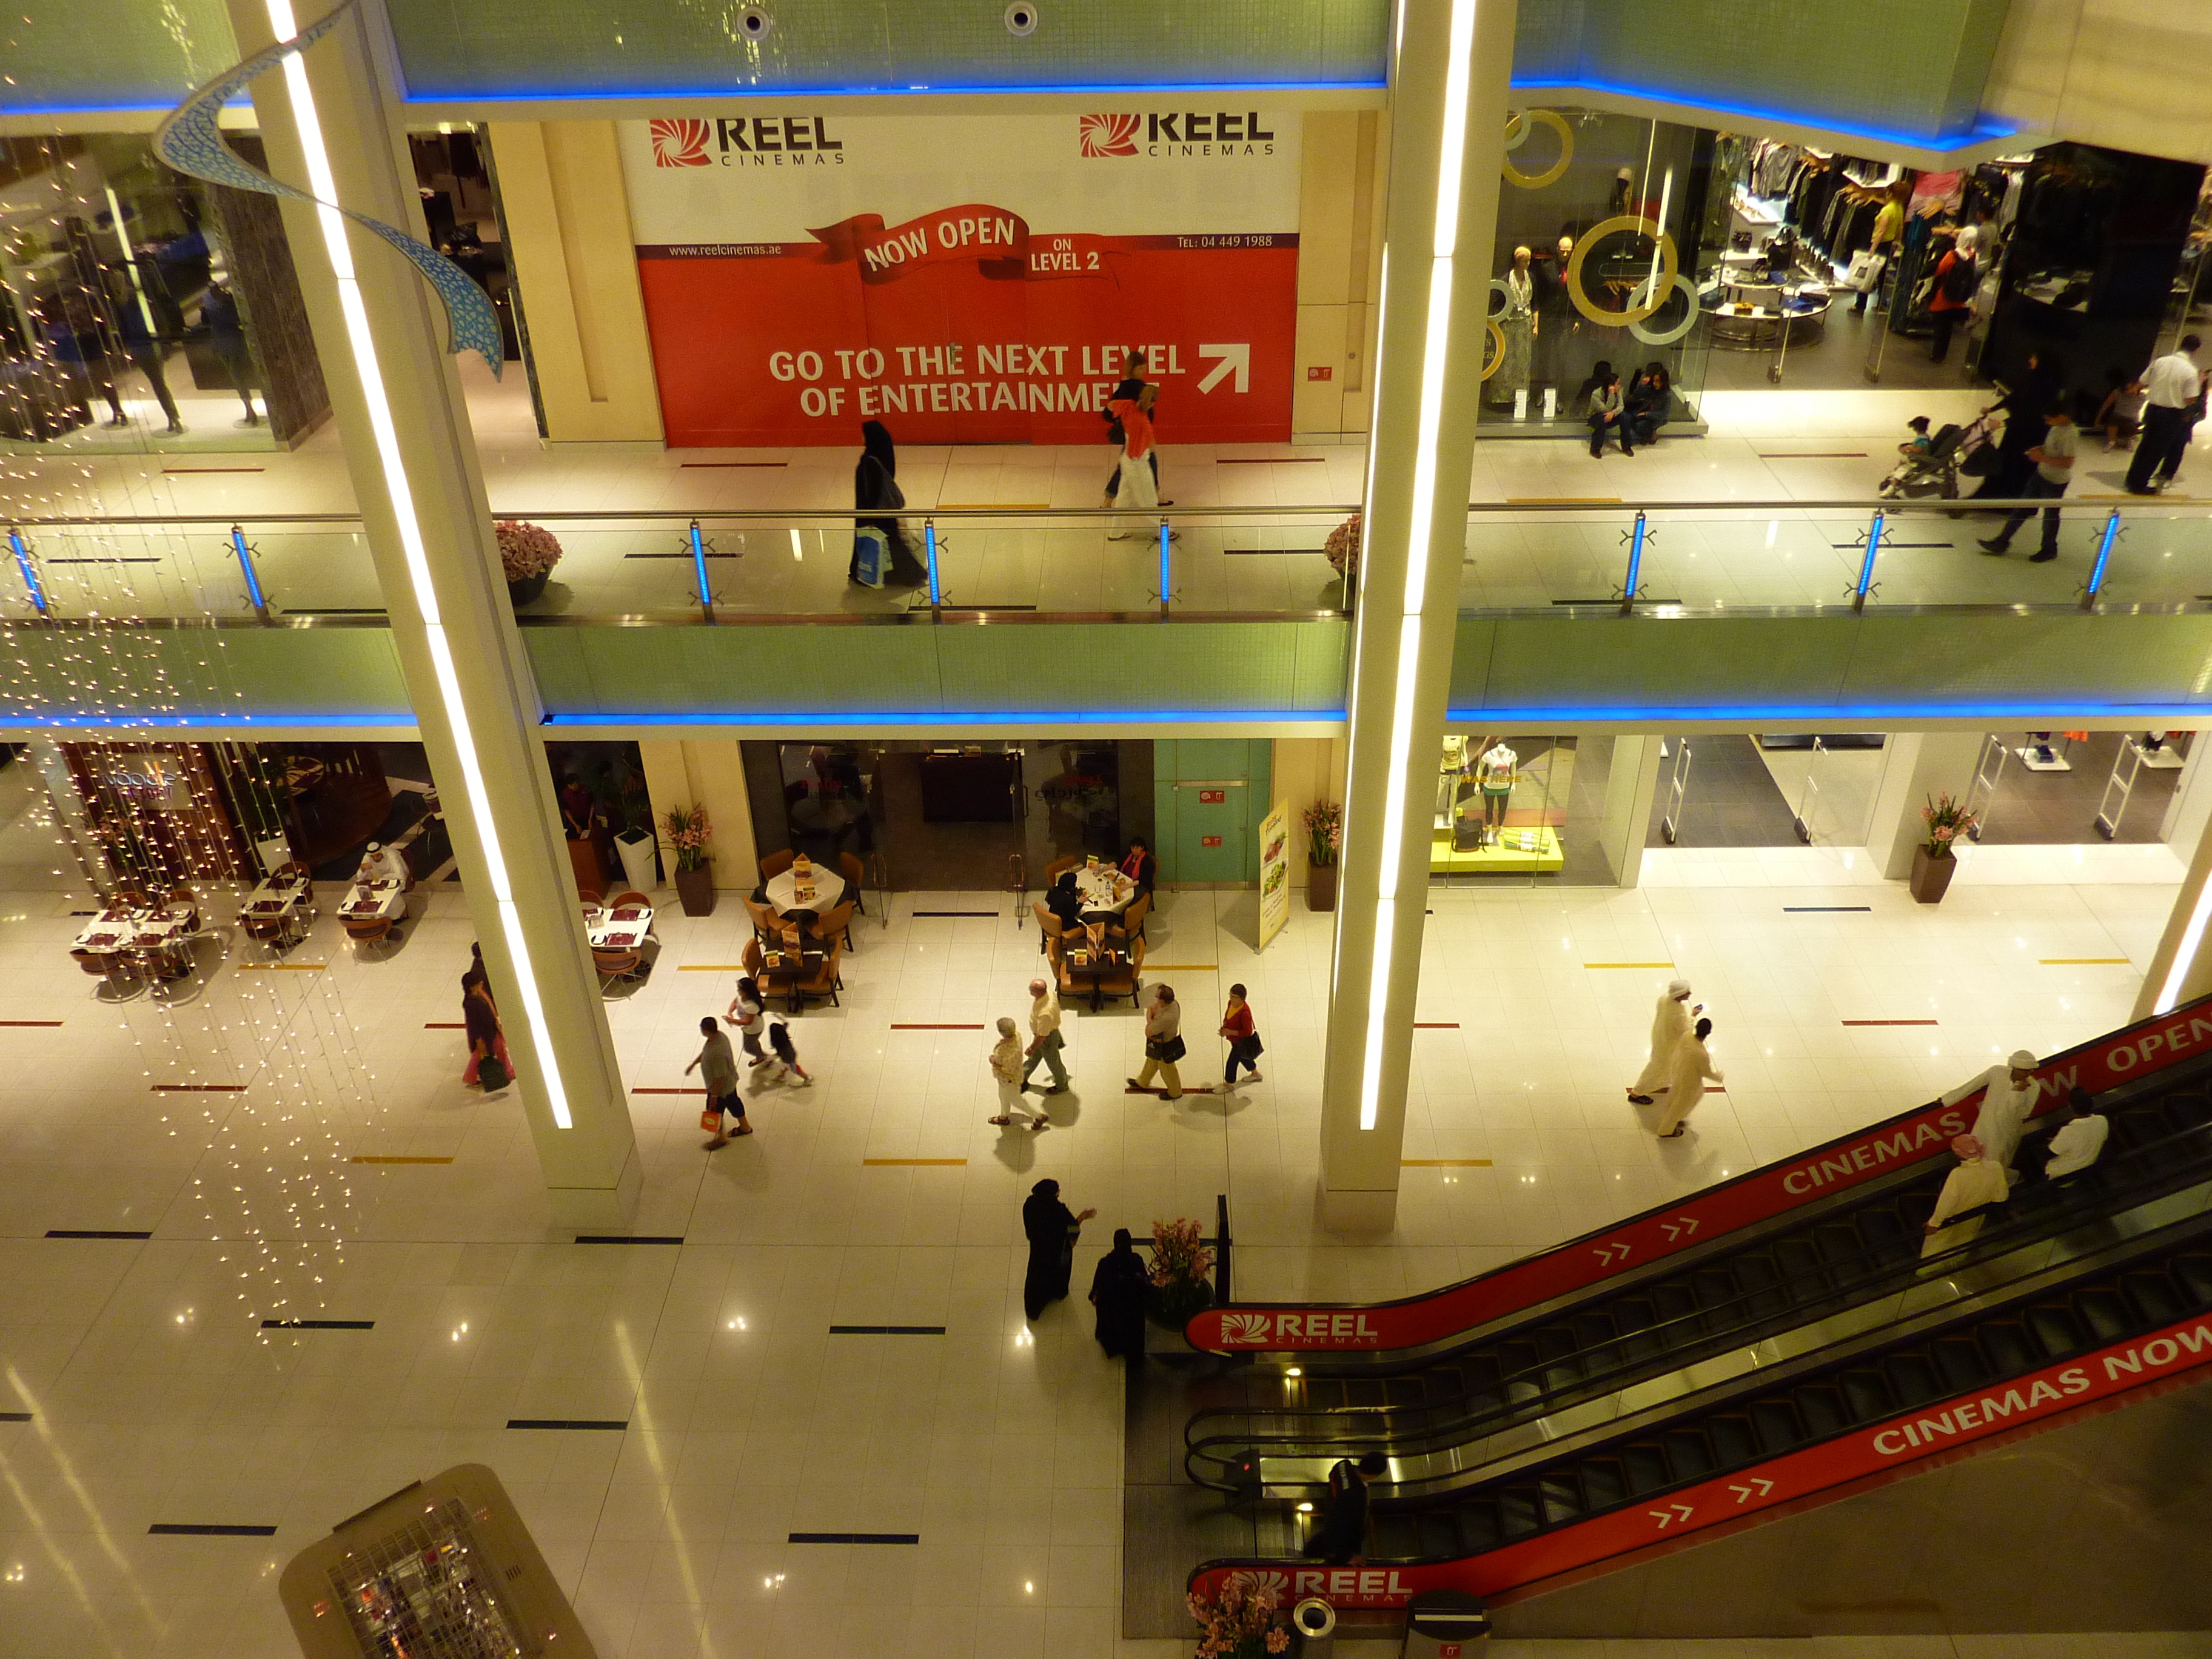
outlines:
[[[1405, 1155], [1486, 1166], [1407, 1170], [1398, 1225], [1367, 1241], [1314, 1219], [1329, 922], [1298, 907], [1256, 956], [1252, 894], [1168, 894], [1148, 971], [1192, 1006], [1190, 1084], [1212, 1075], [1228, 980], [1252, 989], [1267, 1079], [1239, 1095], [1126, 1095], [1135, 1015], [1077, 1013], [1055, 1128], [987, 1126], [973, 1026], [1020, 1011], [1035, 931], [914, 918], [902, 896], [863, 922], [845, 1004], [794, 1022], [818, 1084], [754, 1091], [759, 1133], [712, 1157], [697, 1097], [666, 1091], [730, 991], [726, 971], [684, 969], [734, 960], [743, 914], [670, 907], [653, 978], [608, 1018], [639, 1091], [633, 1230], [684, 1243], [577, 1245], [546, 1221], [513, 1097], [458, 1082], [458, 896], [418, 896], [385, 960], [327, 916], [281, 964], [217, 927], [195, 982], [115, 1000], [64, 956], [82, 900], [9, 891], [0, 1409], [27, 1420], [0, 1422], [0, 1652], [276, 1659], [294, 1650], [274, 1597], [292, 1553], [407, 1480], [482, 1460], [608, 1659], [1113, 1655], [1119, 1371], [1079, 1303], [1022, 1321], [1031, 1181], [1053, 1175], [1099, 1210], [1077, 1283], [1108, 1228], [1210, 1217], [1228, 1192], [1243, 1294], [1429, 1287], [1893, 1113], [2022, 1042], [2121, 1022], [2179, 880], [2163, 847], [1975, 849], [1929, 909], [1863, 865], [1655, 852], [1639, 891], [1436, 889], [1418, 1018], [1438, 1029], [1416, 1037]], [[1836, 885], [1871, 909], [1785, 909]], [[925, 907], [1006, 909], [991, 894]], [[1619, 967], [1650, 962], [1674, 967]], [[1728, 1088], [1659, 1146], [1621, 1082], [1674, 969], [1712, 1006]], [[1938, 1024], [1843, 1024], [1874, 1018]], [[843, 1323], [947, 1329], [832, 1336]]]

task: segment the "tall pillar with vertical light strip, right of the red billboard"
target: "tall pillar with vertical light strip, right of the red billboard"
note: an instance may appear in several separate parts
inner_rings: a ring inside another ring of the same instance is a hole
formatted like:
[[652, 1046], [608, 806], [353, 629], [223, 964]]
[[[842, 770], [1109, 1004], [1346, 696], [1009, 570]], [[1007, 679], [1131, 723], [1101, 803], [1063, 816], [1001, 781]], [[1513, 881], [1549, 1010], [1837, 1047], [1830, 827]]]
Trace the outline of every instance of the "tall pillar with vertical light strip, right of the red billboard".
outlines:
[[1515, 0], [1398, 0], [1383, 327], [1321, 1093], [1323, 1221], [1398, 1208]]

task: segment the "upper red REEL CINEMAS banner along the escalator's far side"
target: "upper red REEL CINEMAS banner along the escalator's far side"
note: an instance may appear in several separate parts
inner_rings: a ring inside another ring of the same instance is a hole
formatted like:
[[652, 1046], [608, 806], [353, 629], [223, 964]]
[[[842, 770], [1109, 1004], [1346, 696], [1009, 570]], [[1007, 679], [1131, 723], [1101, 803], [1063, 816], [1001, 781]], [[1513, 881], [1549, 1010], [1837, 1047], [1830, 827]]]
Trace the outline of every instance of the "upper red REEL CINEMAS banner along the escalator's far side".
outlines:
[[[2212, 998], [2053, 1055], [2035, 1068], [2035, 1075], [2048, 1084], [2037, 1095], [2037, 1113], [2057, 1106], [2068, 1088], [2079, 1086], [2099, 1095], [2130, 1077], [2163, 1071], [2203, 1053], [2212, 1053]], [[1436, 1343], [1522, 1307], [1595, 1285], [1624, 1267], [1639, 1267], [1723, 1232], [1765, 1221], [1825, 1192], [1838, 1192], [1902, 1164], [1936, 1157], [1951, 1144], [1953, 1135], [1966, 1133], [1980, 1099], [1975, 1093], [1958, 1106], [1922, 1106], [1798, 1157], [1750, 1170], [1734, 1181], [1692, 1192], [1681, 1203], [1646, 1210], [1615, 1228], [1586, 1232], [1564, 1245], [1427, 1296], [1356, 1310], [1327, 1303], [1208, 1307], [1192, 1316], [1183, 1336], [1192, 1347], [1219, 1354], [1237, 1349], [1385, 1349]], [[1352, 1321], [1352, 1316], [1356, 1316], [1356, 1325], [1340, 1323]]]

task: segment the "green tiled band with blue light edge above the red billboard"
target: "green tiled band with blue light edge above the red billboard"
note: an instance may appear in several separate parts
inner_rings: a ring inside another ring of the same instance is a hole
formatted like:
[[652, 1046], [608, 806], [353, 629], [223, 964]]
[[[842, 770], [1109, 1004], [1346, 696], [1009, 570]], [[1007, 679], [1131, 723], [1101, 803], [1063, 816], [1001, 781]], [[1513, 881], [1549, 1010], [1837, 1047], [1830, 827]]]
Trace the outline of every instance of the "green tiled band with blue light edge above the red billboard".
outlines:
[[[411, 97], [1378, 86], [1380, 0], [387, 0]], [[956, 157], [947, 157], [956, 161]]]

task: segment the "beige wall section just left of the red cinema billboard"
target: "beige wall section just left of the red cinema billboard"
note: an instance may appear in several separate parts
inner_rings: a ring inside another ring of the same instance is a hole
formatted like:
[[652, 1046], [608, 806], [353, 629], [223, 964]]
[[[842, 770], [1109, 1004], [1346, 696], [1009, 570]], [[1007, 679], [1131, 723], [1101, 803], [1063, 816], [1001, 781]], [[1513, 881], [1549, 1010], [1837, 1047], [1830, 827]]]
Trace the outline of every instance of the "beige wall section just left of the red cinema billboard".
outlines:
[[553, 442], [659, 442], [613, 122], [491, 122], [507, 250]]

